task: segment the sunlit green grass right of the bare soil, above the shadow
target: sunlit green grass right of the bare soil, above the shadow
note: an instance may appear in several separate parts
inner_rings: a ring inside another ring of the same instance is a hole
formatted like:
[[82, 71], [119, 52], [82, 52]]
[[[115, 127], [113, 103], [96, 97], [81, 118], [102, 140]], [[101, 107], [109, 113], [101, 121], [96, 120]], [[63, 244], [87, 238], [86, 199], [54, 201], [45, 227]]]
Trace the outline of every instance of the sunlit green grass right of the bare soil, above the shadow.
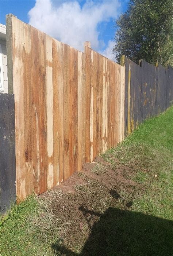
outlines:
[[103, 154], [103, 158], [115, 164], [112, 155], [123, 164], [137, 163], [139, 170], [132, 179], [145, 184], [145, 194], [134, 201], [132, 209], [173, 219], [173, 107], [145, 121], [121, 145]]

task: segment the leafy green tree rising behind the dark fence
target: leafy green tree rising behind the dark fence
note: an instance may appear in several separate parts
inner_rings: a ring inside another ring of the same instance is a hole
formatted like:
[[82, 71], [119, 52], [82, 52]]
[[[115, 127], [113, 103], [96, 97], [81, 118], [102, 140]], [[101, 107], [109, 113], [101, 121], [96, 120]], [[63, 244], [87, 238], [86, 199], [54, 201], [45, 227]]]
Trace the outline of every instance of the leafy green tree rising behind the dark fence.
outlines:
[[114, 54], [173, 66], [173, 1], [130, 0], [116, 21]]

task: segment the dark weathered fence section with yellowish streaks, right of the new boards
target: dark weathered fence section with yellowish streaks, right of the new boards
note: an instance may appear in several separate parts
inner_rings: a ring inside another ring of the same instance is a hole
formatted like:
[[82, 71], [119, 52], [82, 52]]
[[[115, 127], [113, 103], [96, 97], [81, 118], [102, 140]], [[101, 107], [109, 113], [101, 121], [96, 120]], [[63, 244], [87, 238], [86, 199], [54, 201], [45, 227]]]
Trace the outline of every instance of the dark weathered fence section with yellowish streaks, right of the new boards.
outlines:
[[126, 58], [125, 135], [173, 103], [173, 69]]

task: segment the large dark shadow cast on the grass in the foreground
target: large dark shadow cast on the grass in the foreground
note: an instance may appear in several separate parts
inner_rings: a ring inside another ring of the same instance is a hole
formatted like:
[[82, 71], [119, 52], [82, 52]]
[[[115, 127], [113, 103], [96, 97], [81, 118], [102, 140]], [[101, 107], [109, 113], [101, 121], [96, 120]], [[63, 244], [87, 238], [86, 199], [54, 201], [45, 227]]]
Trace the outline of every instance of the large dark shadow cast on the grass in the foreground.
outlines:
[[[88, 224], [93, 216], [100, 216], [79, 255], [172, 255], [172, 221], [111, 207], [103, 214], [79, 209]], [[78, 255], [58, 243], [52, 248], [57, 255]]]

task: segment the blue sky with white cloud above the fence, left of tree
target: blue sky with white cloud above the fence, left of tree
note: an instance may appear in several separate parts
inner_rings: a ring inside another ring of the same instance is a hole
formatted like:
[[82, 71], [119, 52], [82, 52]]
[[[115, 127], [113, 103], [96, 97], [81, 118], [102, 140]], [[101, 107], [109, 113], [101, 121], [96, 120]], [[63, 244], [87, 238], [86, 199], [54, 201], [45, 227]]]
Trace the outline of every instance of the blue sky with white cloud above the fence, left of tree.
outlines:
[[127, 0], [0, 0], [0, 23], [5, 14], [19, 19], [82, 51], [83, 43], [112, 58], [115, 19]]

